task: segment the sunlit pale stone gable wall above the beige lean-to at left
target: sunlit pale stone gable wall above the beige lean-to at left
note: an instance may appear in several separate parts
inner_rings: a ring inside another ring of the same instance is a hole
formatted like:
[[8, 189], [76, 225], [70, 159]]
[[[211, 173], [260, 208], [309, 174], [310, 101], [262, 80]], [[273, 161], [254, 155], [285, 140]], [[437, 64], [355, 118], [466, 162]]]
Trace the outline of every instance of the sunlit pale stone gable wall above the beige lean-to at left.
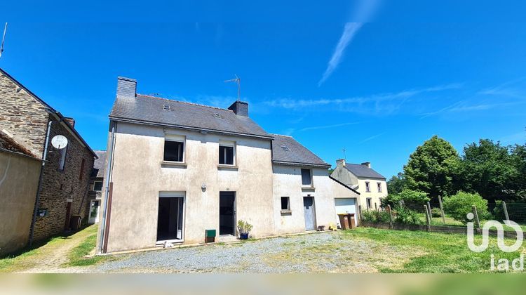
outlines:
[[0, 130], [6, 129], [18, 143], [42, 157], [46, 138], [46, 108], [0, 72]]

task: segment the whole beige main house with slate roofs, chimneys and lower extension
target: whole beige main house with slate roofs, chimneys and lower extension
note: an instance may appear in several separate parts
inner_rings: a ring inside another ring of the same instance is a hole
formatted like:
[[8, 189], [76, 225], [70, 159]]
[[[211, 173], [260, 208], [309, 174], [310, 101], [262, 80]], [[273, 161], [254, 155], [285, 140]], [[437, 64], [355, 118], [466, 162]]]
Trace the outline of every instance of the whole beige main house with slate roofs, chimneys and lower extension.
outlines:
[[263, 237], [337, 223], [335, 198], [360, 197], [290, 136], [267, 133], [248, 103], [228, 109], [136, 93], [119, 77], [109, 114], [99, 252]]

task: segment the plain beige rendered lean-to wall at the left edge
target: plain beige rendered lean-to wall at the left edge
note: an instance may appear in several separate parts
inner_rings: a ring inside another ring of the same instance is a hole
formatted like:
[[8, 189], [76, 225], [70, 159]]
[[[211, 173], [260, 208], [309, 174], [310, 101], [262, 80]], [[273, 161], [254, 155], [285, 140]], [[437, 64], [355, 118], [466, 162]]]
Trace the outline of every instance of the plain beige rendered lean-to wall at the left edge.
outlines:
[[27, 244], [40, 168], [37, 159], [0, 151], [0, 255]]

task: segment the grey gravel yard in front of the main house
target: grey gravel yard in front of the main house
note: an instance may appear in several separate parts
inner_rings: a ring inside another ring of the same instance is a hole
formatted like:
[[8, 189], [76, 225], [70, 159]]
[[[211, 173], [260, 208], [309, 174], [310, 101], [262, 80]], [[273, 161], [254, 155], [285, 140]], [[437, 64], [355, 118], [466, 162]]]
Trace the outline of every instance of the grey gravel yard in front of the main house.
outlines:
[[351, 240], [341, 232], [276, 237], [237, 244], [164, 249], [120, 256], [96, 273], [374, 273], [407, 260], [394, 247]]

